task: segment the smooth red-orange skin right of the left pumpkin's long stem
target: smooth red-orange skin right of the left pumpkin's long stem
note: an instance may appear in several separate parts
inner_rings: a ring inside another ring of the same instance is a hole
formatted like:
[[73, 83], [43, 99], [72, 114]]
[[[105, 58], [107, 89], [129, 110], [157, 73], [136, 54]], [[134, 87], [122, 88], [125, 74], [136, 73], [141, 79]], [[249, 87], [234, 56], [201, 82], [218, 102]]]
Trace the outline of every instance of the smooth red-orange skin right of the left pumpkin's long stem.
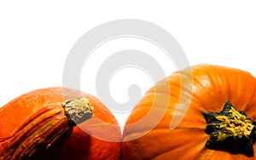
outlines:
[[53, 159], [67, 160], [119, 160], [121, 157], [121, 131], [113, 114], [95, 97], [85, 96], [94, 106], [93, 116], [78, 124], [61, 150]]

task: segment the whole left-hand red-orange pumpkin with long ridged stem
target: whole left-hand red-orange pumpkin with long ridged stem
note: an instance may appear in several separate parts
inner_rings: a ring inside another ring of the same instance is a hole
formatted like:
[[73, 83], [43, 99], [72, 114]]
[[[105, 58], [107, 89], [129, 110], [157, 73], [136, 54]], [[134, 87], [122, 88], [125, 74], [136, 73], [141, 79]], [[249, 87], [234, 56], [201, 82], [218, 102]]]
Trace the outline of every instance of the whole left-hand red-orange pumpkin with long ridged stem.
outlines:
[[[79, 90], [33, 90], [1, 107], [0, 117], [0, 159], [120, 157], [115, 118], [94, 96]], [[60, 155], [63, 145], [69, 151]]]

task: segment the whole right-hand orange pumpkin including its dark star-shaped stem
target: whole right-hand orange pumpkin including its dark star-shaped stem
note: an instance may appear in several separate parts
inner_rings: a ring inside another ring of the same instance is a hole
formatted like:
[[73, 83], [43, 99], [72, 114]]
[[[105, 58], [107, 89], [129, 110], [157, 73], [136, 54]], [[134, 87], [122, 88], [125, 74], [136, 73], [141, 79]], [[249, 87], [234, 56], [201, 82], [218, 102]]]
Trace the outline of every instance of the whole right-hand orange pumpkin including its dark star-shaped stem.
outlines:
[[123, 134], [124, 159], [256, 159], [256, 79], [198, 65], [148, 90]]

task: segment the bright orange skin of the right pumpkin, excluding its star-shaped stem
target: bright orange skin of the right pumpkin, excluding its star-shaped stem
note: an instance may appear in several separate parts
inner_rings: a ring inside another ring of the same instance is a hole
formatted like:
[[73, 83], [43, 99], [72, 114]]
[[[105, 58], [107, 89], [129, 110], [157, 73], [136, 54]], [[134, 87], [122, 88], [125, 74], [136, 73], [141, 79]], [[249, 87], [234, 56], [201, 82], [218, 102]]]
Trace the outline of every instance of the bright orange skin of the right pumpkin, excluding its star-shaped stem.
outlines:
[[[205, 132], [207, 122], [202, 112], [222, 111], [226, 100], [237, 111], [244, 111], [247, 117], [256, 120], [255, 77], [239, 69], [212, 65], [174, 72], [149, 89], [128, 117], [123, 135], [123, 158], [256, 159], [206, 147], [209, 135]], [[180, 121], [172, 128], [174, 116]], [[152, 127], [152, 123], [156, 125]], [[256, 151], [255, 144], [253, 151]]]

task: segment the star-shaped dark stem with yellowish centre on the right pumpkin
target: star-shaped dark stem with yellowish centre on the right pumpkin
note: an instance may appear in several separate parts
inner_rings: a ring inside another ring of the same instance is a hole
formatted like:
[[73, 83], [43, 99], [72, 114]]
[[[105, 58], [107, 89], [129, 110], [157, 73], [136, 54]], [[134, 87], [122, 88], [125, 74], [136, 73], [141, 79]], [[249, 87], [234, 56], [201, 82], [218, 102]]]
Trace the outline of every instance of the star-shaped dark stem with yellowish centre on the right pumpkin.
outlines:
[[244, 111], [236, 111], [230, 101], [226, 101], [220, 112], [203, 111], [209, 134], [206, 147], [253, 157], [253, 144], [256, 139], [256, 122], [247, 117]]

